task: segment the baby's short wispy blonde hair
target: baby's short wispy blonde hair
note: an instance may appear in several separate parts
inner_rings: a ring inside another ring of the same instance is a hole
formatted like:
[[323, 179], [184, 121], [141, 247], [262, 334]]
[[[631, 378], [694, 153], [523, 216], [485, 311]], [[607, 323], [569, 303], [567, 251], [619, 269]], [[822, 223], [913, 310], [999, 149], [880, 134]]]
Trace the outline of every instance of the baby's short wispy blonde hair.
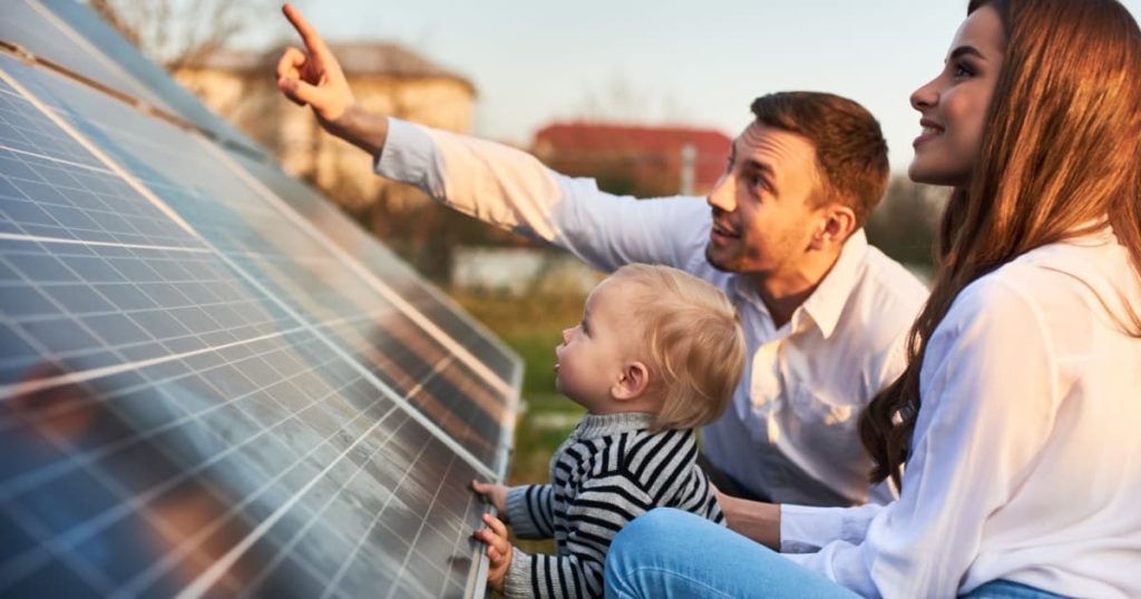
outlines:
[[650, 389], [662, 395], [654, 428], [688, 429], [721, 416], [745, 367], [741, 318], [721, 290], [667, 266], [626, 265], [631, 311], [649, 353]]

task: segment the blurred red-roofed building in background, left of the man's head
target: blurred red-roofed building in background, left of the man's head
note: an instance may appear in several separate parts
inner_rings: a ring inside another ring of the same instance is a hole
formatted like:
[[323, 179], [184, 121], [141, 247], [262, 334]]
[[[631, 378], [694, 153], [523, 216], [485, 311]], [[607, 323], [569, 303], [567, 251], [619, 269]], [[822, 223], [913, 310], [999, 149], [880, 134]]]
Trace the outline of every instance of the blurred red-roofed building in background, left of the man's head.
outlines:
[[556, 123], [535, 133], [532, 149], [552, 169], [593, 177], [607, 192], [664, 196], [707, 193], [731, 145], [710, 129]]

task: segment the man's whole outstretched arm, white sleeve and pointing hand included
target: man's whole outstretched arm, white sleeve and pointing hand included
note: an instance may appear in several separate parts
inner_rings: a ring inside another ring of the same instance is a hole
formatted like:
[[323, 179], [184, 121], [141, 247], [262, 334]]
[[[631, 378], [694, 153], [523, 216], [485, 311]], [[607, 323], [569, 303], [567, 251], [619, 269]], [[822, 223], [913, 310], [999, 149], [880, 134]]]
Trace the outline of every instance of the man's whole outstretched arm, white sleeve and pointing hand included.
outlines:
[[551, 171], [525, 152], [372, 114], [353, 96], [321, 35], [292, 6], [282, 10], [305, 49], [282, 55], [278, 89], [309, 106], [326, 131], [372, 155], [378, 175], [485, 222], [553, 243], [602, 270], [630, 262], [683, 269], [705, 264], [710, 212], [703, 202], [617, 197], [591, 179]]

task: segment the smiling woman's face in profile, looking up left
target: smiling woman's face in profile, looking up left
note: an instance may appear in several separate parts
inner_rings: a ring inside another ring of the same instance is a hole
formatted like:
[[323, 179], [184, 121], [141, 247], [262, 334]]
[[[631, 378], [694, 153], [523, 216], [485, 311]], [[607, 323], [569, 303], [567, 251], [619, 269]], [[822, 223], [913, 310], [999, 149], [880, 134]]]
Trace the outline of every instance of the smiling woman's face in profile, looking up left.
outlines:
[[1005, 47], [998, 13], [984, 6], [958, 27], [942, 72], [912, 94], [923, 128], [912, 144], [915, 157], [907, 175], [913, 181], [950, 186], [970, 181]]

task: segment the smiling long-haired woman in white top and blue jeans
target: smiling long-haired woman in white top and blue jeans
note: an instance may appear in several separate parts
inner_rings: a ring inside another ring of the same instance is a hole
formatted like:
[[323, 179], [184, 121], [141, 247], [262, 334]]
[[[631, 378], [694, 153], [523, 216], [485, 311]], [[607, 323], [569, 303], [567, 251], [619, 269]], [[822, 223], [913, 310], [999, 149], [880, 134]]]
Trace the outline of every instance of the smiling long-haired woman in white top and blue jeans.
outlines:
[[608, 596], [1141, 597], [1141, 32], [1112, 0], [973, 0], [912, 105], [912, 179], [955, 191], [860, 422], [900, 499], [722, 497], [745, 536], [655, 510]]

